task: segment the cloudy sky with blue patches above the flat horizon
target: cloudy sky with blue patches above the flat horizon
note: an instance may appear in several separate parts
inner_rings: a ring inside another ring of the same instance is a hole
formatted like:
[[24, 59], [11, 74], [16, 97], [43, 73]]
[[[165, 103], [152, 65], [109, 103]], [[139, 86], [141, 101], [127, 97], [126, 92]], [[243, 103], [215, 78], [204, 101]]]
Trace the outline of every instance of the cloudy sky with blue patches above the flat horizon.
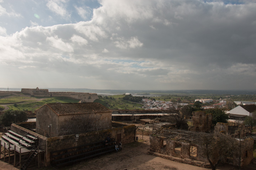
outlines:
[[256, 89], [255, 0], [0, 0], [0, 87]]

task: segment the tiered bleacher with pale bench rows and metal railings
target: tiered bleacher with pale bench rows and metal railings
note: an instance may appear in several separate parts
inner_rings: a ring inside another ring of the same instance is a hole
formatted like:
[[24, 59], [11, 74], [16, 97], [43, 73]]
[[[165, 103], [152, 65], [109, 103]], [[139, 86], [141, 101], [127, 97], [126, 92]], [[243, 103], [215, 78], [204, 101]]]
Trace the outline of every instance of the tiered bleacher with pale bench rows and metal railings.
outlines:
[[[28, 133], [22, 136], [6, 129], [0, 138], [0, 144], [0, 159], [4, 158], [5, 162], [5, 159], [9, 157], [10, 164], [11, 157], [14, 156], [14, 166], [19, 164], [22, 170], [25, 170], [39, 153], [44, 153], [43, 150], [39, 149], [38, 136], [34, 137]], [[4, 149], [1, 147], [4, 147]], [[19, 162], [17, 164], [16, 155], [19, 155]]]

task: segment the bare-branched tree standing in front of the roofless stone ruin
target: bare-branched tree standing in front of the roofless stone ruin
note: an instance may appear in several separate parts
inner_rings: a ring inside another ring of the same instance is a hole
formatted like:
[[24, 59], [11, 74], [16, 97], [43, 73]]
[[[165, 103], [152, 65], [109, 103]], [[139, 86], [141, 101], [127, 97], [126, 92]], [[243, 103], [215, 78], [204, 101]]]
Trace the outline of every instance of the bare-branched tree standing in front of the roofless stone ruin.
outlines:
[[238, 140], [222, 133], [204, 135], [203, 145], [206, 147], [204, 152], [212, 170], [215, 170], [220, 163], [224, 163], [226, 158], [233, 158], [240, 149]]

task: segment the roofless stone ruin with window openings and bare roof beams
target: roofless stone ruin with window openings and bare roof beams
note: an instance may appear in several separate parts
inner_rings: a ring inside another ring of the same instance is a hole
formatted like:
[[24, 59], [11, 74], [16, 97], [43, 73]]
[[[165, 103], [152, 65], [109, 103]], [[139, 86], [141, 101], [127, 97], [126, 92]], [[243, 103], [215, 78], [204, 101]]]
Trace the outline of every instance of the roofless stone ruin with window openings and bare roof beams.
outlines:
[[[209, 168], [202, 136], [207, 135], [206, 132], [210, 132], [211, 127], [212, 114], [203, 111], [193, 112], [193, 126], [189, 131], [161, 128], [151, 134], [149, 153], [176, 162]], [[228, 124], [217, 123], [214, 133], [228, 134]], [[234, 154], [233, 158], [226, 159], [226, 162], [236, 166], [246, 166], [253, 159], [254, 140], [244, 139], [244, 125], [240, 126], [239, 133], [240, 138], [243, 138], [240, 140], [241, 155]], [[238, 137], [237, 134], [235, 137]]]

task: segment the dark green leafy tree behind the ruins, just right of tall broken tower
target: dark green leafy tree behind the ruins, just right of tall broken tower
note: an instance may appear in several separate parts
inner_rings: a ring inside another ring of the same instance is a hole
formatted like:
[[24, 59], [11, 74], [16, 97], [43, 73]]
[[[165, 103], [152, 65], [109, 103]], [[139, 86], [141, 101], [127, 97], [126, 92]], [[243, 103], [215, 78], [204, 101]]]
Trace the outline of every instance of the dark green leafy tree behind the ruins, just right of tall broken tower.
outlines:
[[216, 125], [220, 123], [228, 123], [228, 115], [222, 109], [207, 109], [205, 110], [206, 114], [212, 114], [212, 124]]

